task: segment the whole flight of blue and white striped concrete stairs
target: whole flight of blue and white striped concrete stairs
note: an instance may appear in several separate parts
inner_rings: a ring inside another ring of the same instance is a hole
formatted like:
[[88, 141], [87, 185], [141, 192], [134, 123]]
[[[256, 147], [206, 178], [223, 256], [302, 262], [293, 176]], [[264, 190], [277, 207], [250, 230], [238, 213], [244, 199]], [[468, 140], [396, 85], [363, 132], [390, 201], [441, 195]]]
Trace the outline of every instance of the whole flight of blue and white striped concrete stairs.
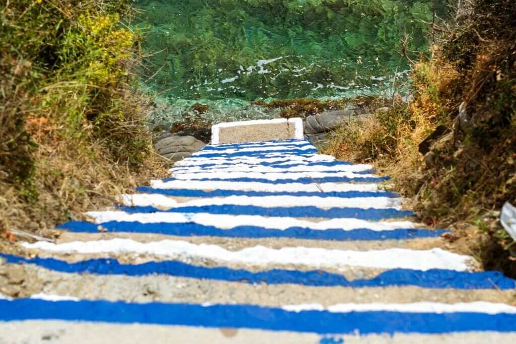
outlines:
[[[369, 165], [307, 140], [206, 146], [57, 243], [24, 243], [29, 298], [0, 343], [516, 340], [516, 281], [443, 250]], [[34, 285], [39, 287], [34, 287]]]

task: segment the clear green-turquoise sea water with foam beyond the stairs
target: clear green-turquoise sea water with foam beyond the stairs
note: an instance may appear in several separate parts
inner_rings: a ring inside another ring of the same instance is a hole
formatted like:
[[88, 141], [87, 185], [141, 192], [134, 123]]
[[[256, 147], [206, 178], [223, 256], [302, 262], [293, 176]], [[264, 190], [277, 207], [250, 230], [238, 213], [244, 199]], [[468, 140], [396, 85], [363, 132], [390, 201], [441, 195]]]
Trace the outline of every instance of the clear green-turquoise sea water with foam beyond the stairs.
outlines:
[[[140, 0], [143, 84], [163, 117], [210, 106], [216, 121], [264, 118], [259, 99], [390, 92], [408, 71], [399, 53], [426, 51], [429, 0]], [[425, 23], [427, 22], [427, 23]]]

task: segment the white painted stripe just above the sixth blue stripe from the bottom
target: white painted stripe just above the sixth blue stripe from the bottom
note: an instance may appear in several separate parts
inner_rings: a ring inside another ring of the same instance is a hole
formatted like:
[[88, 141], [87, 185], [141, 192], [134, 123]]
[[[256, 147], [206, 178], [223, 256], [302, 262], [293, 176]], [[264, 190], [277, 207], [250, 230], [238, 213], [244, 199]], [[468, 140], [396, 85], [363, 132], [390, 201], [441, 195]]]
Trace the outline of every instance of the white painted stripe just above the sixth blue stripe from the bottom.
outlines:
[[198, 173], [178, 173], [173, 175], [178, 179], [233, 179], [233, 178], [261, 178], [268, 181], [279, 179], [299, 179], [299, 178], [325, 178], [325, 177], [347, 177], [347, 178], [378, 178], [374, 174], [357, 174], [353, 172], [289, 172], [289, 173], [260, 173], [260, 172], [198, 172]]

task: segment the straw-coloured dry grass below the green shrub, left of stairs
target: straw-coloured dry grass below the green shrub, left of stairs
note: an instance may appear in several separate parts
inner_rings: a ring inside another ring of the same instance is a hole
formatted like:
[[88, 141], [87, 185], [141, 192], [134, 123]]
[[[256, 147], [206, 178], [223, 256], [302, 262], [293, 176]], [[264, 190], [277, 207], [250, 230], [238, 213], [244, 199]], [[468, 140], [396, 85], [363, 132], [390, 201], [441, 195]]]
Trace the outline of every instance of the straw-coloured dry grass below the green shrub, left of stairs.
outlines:
[[17, 238], [7, 230], [52, 237], [56, 224], [85, 219], [84, 211], [112, 206], [116, 195], [166, 175], [165, 161], [156, 155], [147, 156], [137, 171], [110, 156], [100, 144], [40, 144], [29, 189], [0, 182], [0, 251], [18, 251], [12, 244]]

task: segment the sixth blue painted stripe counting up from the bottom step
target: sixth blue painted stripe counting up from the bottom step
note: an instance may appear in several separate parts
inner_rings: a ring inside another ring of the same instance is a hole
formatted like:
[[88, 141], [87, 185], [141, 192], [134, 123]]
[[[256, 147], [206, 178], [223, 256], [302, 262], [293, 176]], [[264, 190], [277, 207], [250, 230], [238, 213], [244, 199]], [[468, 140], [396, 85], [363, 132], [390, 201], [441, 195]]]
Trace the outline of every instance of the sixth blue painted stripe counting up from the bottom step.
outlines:
[[313, 184], [314, 181], [317, 183], [381, 183], [388, 181], [389, 177], [324, 177], [324, 178], [308, 178], [301, 177], [297, 179], [276, 179], [275, 181], [271, 181], [270, 179], [265, 178], [191, 178], [191, 179], [178, 179], [173, 177], [164, 178], [163, 182], [171, 182], [171, 181], [182, 181], [188, 183], [188, 181], [214, 181], [214, 182], [246, 182], [246, 183], [267, 183], [267, 184], [291, 184], [291, 183], [300, 183], [300, 184]]

